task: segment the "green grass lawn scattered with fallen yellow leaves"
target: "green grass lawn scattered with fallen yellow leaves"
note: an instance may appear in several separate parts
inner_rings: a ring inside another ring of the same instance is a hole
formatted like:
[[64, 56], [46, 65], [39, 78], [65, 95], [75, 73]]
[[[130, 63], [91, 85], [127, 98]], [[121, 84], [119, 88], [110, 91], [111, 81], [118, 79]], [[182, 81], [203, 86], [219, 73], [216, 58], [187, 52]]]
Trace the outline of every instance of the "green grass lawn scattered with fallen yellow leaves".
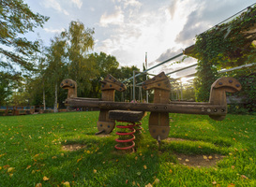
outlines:
[[[256, 116], [227, 115], [222, 122], [170, 116], [169, 137], [188, 140], [158, 147], [146, 116], [132, 154], [114, 151], [116, 129], [109, 137], [94, 135], [98, 111], [0, 117], [0, 186], [256, 186]], [[62, 150], [75, 143], [86, 147]], [[179, 165], [174, 153], [226, 157], [198, 168]]]

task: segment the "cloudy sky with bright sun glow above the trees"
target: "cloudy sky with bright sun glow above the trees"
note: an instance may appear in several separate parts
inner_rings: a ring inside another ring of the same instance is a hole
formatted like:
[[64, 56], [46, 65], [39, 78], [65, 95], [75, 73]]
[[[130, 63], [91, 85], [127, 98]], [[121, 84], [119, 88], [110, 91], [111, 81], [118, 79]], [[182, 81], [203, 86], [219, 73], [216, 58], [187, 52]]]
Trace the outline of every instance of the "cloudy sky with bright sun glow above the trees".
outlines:
[[[197, 34], [255, 3], [253, 0], [24, 0], [34, 11], [49, 16], [38, 34], [50, 39], [71, 21], [95, 28], [93, 52], [116, 57], [120, 65], [142, 69], [147, 52], [149, 67], [171, 58], [193, 44]], [[181, 65], [182, 66], [182, 65]], [[164, 70], [173, 67], [165, 65]], [[158, 70], [152, 71], [158, 73]], [[166, 73], [169, 73], [166, 72]]]

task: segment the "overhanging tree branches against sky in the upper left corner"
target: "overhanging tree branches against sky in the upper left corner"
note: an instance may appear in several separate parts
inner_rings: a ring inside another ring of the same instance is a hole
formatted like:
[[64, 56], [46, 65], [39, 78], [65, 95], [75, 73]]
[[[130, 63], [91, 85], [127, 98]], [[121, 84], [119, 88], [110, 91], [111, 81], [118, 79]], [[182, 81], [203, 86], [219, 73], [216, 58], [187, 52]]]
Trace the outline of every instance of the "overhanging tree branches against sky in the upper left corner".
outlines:
[[38, 50], [38, 42], [28, 41], [22, 36], [42, 27], [48, 19], [33, 13], [23, 0], [0, 1], [0, 67], [13, 70], [12, 65], [20, 65], [28, 70], [34, 69], [30, 59]]

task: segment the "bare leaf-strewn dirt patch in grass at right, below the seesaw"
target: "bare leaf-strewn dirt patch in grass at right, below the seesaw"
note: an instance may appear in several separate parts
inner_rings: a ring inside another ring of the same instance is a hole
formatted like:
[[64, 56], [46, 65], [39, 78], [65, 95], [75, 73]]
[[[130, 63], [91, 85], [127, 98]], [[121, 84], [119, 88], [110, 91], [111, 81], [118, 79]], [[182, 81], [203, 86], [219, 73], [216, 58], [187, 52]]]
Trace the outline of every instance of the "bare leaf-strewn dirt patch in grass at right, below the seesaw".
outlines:
[[176, 153], [179, 164], [195, 166], [195, 167], [211, 167], [223, 159], [225, 156], [214, 154], [214, 155], [186, 155]]

